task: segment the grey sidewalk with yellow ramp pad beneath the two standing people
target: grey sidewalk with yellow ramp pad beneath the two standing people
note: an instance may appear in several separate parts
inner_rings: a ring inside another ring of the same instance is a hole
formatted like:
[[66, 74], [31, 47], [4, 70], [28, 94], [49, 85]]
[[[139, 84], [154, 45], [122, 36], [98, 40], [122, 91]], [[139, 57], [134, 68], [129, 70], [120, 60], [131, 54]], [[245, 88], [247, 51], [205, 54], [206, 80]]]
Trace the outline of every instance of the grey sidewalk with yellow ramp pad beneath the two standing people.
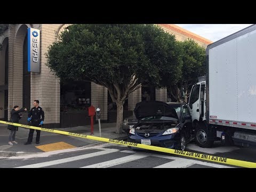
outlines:
[[[101, 123], [101, 137], [108, 139], [117, 139], [122, 140], [127, 138], [127, 133], [117, 134], [116, 123]], [[94, 124], [94, 134], [92, 136], [100, 137], [99, 125]], [[85, 126], [76, 126], [76, 127], [67, 127], [67, 128], [55, 128], [56, 130], [73, 132], [85, 135], [91, 135], [90, 125]], [[15, 141], [18, 142], [17, 145], [8, 145], [10, 130], [7, 129], [7, 125], [0, 123], [0, 157], [11, 157], [11, 156], [23, 156], [31, 153], [44, 153], [44, 150], [41, 150], [44, 145], [52, 146], [51, 149], [47, 150], [61, 150], [65, 147], [84, 147], [87, 145], [92, 145], [100, 143], [100, 141], [79, 138], [69, 135], [62, 135], [58, 133], [51, 133], [46, 131], [41, 131], [40, 143], [37, 145], [36, 142], [36, 130], [34, 131], [33, 142], [31, 145], [24, 145], [28, 139], [29, 129], [19, 127], [19, 130], [16, 132]], [[56, 147], [57, 145], [57, 147]], [[38, 147], [38, 148], [37, 148]], [[41, 148], [41, 149], [40, 149]]]

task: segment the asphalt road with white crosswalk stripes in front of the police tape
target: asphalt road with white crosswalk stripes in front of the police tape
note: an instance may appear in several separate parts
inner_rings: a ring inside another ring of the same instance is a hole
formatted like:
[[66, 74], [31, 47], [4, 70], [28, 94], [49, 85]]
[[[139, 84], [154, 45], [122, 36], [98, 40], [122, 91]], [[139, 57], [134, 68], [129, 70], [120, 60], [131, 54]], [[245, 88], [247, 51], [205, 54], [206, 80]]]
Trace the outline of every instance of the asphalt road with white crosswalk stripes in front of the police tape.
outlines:
[[[215, 149], [216, 150], [216, 149]], [[212, 152], [212, 151], [210, 151]], [[228, 168], [220, 163], [200, 161], [157, 151], [134, 151], [126, 146], [102, 143], [42, 154], [6, 157], [0, 167], [19, 168]]]

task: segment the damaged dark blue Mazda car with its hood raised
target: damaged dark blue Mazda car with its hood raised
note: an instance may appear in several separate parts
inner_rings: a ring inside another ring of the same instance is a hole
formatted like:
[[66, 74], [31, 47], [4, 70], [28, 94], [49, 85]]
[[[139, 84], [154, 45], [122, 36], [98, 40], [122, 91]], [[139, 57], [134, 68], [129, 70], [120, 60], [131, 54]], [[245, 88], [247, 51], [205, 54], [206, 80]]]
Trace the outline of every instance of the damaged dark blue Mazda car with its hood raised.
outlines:
[[130, 142], [185, 150], [194, 139], [187, 104], [142, 101], [133, 111], [138, 123], [129, 131]]

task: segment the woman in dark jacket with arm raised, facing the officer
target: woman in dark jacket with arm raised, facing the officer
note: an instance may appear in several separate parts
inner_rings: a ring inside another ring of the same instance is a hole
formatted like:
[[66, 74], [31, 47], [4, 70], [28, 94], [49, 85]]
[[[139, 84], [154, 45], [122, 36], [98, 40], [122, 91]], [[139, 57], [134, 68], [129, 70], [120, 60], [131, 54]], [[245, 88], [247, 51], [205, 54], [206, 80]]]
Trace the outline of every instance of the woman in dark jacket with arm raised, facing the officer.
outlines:
[[[19, 123], [19, 119], [22, 117], [22, 115], [20, 115], [20, 112], [26, 111], [26, 108], [21, 108], [19, 109], [19, 106], [14, 106], [13, 109], [11, 110], [11, 120], [10, 122], [12, 123]], [[17, 126], [13, 126], [13, 125], [8, 125], [7, 129], [9, 129], [11, 132], [9, 134], [9, 145], [13, 145], [13, 143], [18, 144], [18, 142], [15, 141], [15, 135], [16, 135], [16, 131], [18, 129]]]

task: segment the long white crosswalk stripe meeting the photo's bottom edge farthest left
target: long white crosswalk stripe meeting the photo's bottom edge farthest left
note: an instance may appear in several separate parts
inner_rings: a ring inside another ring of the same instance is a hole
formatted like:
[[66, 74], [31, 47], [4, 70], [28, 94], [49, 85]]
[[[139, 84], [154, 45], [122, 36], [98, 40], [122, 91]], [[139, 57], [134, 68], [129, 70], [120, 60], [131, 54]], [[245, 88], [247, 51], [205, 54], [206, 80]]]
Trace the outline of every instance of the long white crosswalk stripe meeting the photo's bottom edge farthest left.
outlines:
[[75, 156], [75, 157], [62, 158], [62, 159], [57, 159], [54, 161], [35, 163], [35, 164], [31, 164], [31, 165], [19, 166], [19, 167], [14, 167], [14, 168], [39, 168], [39, 167], [57, 165], [57, 164], [67, 163], [67, 162], [72, 162], [72, 161], [78, 161], [81, 159], [95, 157], [95, 156], [99, 156], [99, 155], [106, 155], [106, 154], [114, 153], [117, 151], [119, 151], [119, 150], [118, 149], [107, 149], [107, 150], [98, 151], [95, 153], [79, 155], [79, 156]]

